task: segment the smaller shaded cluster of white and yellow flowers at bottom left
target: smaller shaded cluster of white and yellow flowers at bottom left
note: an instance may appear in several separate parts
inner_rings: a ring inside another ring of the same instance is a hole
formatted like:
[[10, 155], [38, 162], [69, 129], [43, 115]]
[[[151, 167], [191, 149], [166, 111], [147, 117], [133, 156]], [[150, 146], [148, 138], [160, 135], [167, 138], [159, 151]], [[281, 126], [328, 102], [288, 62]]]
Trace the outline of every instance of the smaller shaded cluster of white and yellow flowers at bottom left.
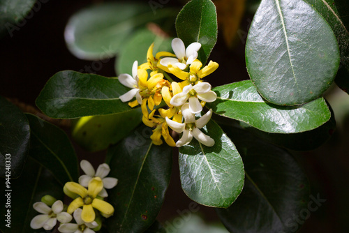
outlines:
[[[87, 160], [82, 160], [80, 166], [85, 174], [80, 176], [79, 183], [67, 182], [63, 188], [64, 193], [73, 201], [64, 206], [60, 200], [45, 195], [41, 198], [41, 202], [33, 205], [33, 208], [42, 214], [31, 220], [31, 228], [43, 227], [45, 230], [52, 230], [58, 221], [59, 232], [94, 233], [101, 229], [102, 216], [105, 218], [112, 216], [114, 207], [103, 200], [107, 197], [105, 188], [110, 189], [117, 185], [116, 178], [105, 177], [110, 172], [109, 165], [106, 163], [99, 165], [96, 172]], [[71, 223], [73, 217], [75, 223]]]

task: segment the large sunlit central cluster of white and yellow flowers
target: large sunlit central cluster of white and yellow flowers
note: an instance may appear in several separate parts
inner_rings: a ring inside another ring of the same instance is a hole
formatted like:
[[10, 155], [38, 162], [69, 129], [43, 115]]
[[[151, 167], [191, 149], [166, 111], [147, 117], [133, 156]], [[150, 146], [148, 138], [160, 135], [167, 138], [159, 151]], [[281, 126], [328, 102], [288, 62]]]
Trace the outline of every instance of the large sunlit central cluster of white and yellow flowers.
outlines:
[[[170, 146], [184, 146], [191, 142], [193, 137], [206, 146], [213, 146], [214, 140], [202, 133], [212, 115], [209, 110], [200, 119], [195, 119], [195, 114], [202, 111], [205, 104], [216, 100], [216, 93], [211, 91], [211, 84], [202, 79], [218, 68], [218, 63], [210, 61], [202, 68], [198, 60], [200, 43], [191, 43], [186, 48], [179, 38], [172, 40], [170, 52], [153, 54], [154, 44], [147, 52], [147, 62], [138, 66], [138, 61], [133, 63], [132, 76], [119, 75], [119, 82], [130, 91], [120, 96], [121, 101], [128, 105], [142, 108], [143, 123], [153, 129], [151, 140], [154, 144], [163, 144], [163, 140]], [[181, 82], [174, 82], [172, 77]], [[163, 104], [165, 103], [165, 107]], [[181, 139], [174, 142], [168, 127], [177, 133], [183, 133]]]

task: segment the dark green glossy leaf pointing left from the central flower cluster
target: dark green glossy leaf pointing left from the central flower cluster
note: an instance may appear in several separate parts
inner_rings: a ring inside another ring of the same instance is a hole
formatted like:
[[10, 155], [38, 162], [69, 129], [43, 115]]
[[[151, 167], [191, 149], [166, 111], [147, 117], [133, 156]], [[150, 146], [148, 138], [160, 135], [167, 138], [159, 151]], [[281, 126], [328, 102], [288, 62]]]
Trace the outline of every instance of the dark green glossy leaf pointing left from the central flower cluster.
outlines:
[[119, 99], [128, 90], [114, 78], [64, 70], [47, 81], [36, 105], [52, 118], [115, 114], [132, 110]]

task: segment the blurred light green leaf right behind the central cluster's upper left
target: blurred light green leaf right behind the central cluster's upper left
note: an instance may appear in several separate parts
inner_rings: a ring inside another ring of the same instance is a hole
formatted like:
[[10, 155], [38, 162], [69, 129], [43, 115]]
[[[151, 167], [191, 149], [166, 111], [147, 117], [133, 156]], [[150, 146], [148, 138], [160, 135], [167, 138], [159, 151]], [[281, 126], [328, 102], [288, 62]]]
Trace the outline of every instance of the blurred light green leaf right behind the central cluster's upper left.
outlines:
[[147, 51], [151, 43], [154, 43], [154, 54], [160, 51], [172, 52], [171, 41], [170, 38], [156, 36], [148, 29], [138, 30], [128, 40], [120, 56], [115, 60], [116, 73], [131, 74], [134, 61], [138, 61], [138, 65], [147, 62]]

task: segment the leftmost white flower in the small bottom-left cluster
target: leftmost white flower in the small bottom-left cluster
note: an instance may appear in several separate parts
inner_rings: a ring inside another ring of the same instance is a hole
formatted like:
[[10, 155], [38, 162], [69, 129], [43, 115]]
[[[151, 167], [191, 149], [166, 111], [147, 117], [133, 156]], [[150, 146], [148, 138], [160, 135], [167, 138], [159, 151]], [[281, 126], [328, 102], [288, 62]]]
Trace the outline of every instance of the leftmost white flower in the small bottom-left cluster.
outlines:
[[69, 213], [62, 212], [64, 206], [63, 202], [59, 200], [54, 202], [52, 207], [43, 202], [36, 202], [33, 204], [33, 208], [39, 213], [43, 213], [31, 220], [30, 227], [33, 229], [43, 227], [45, 230], [51, 230], [57, 224], [57, 220], [59, 223], [69, 223], [72, 220]]

